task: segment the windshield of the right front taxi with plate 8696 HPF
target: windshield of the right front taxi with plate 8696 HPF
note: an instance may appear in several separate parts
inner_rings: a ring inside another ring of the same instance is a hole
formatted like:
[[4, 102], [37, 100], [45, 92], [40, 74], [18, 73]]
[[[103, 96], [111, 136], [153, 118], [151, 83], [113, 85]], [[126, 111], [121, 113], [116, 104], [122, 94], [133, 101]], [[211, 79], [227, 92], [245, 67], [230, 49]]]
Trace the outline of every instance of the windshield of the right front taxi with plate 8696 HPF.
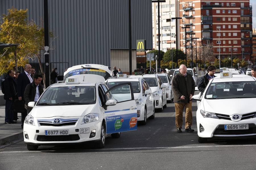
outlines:
[[205, 99], [255, 98], [256, 82], [219, 82], [211, 83]]

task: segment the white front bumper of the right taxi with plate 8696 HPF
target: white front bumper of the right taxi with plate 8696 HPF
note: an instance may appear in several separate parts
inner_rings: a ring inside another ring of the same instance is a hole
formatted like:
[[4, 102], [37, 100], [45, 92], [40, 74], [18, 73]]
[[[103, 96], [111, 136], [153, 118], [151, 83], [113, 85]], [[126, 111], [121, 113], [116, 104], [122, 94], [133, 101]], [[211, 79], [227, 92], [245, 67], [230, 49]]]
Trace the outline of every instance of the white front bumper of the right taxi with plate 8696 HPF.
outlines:
[[[204, 118], [200, 110], [197, 111], [197, 135], [203, 138], [215, 139], [245, 139], [248, 137], [256, 137], [256, 118], [240, 120], [238, 122], [225, 119]], [[228, 124], [249, 124], [247, 130], [224, 130], [224, 125]], [[203, 126], [204, 131], [200, 132]]]

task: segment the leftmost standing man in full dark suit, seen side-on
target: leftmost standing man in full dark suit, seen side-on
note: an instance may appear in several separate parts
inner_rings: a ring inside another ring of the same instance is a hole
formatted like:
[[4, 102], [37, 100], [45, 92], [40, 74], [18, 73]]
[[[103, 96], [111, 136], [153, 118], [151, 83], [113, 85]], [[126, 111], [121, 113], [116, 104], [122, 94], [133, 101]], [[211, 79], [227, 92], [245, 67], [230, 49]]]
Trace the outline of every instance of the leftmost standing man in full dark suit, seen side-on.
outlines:
[[7, 78], [4, 81], [5, 88], [5, 124], [17, 123], [13, 121], [13, 101], [17, 96], [17, 84], [14, 80], [14, 71], [7, 72]]

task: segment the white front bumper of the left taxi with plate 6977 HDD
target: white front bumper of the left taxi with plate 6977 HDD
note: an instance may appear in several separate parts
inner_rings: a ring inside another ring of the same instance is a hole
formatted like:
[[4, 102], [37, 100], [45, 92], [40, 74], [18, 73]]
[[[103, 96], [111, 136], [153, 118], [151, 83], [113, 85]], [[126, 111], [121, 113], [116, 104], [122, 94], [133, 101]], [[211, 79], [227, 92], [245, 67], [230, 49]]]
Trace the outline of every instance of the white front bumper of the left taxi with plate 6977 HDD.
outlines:
[[[95, 121], [81, 125], [81, 119], [82, 118], [79, 118], [75, 125], [40, 126], [36, 118], [34, 118], [36, 124], [35, 126], [24, 123], [24, 142], [33, 145], [52, 145], [65, 143], [82, 143], [100, 139], [102, 121]], [[89, 131], [88, 133], [82, 133], [80, 128], [89, 128]], [[96, 134], [94, 137], [90, 138], [91, 131], [94, 129], [96, 129]], [[69, 135], [45, 135], [45, 130], [69, 130]], [[26, 139], [25, 132], [28, 134], [29, 139]]]

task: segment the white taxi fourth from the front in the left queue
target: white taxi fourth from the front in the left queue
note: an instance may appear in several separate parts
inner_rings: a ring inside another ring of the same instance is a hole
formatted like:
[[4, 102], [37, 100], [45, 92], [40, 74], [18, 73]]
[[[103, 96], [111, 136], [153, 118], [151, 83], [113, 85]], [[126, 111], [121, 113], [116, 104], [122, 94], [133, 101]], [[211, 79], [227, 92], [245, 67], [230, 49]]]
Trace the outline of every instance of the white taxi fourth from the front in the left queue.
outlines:
[[169, 102], [172, 102], [173, 99], [173, 93], [172, 93], [172, 80], [170, 76], [167, 73], [156, 73], [158, 75], [164, 85], [166, 85], [165, 91], [166, 91], [166, 100]]

